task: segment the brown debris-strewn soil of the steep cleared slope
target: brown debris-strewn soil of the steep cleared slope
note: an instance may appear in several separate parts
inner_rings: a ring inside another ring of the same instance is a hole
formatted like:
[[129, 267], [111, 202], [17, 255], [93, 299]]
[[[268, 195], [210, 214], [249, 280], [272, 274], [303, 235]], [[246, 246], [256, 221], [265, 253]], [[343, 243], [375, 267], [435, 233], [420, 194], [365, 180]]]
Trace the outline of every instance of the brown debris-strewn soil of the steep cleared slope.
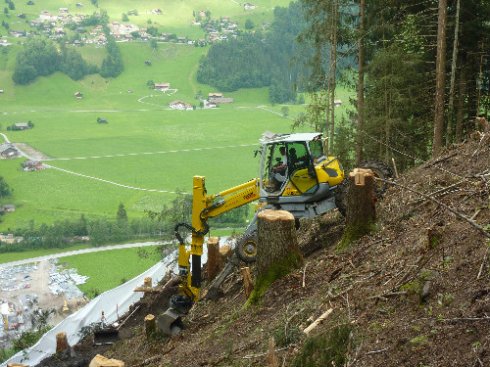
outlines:
[[[472, 141], [441, 158], [397, 183], [425, 195], [439, 190], [432, 197], [488, 231], [490, 147]], [[169, 294], [161, 294], [143, 301], [108, 349], [85, 344], [74, 358], [40, 366], [86, 366], [97, 352], [126, 366], [304, 366], [298, 358], [308, 342], [332, 339], [340, 326], [349, 331], [341, 365], [489, 366], [488, 232], [397, 186], [378, 202], [378, 216], [378, 230], [342, 253], [337, 213], [303, 222], [304, 267], [276, 281], [257, 306], [245, 307], [237, 271], [220, 300], [194, 306], [178, 337], [145, 338], [144, 316], [167, 307]], [[307, 338], [302, 330], [330, 308]], [[327, 349], [310, 352], [309, 366], [340, 365], [325, 364]]]

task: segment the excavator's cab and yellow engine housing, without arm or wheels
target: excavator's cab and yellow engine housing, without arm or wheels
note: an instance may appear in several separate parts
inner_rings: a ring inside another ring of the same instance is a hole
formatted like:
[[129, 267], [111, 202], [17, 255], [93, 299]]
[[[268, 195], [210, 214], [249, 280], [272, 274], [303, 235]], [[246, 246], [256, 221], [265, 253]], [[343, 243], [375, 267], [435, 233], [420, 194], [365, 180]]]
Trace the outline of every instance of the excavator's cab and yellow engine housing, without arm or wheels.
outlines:
[[266, 206], [312, 217], [335, 208], [334, 191], [344, 180], [335, 157], [323, 153], [322, 135], [264, 136], [260, 197]]

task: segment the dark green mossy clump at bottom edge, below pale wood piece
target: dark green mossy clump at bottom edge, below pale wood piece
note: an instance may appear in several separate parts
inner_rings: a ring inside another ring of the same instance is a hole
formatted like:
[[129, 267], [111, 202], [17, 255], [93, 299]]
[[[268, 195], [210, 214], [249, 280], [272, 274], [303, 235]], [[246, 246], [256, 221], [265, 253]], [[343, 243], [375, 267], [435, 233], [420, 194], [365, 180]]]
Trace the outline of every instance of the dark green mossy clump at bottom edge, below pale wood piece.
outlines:
[[344, 366], [347, 362], [352, 328], [340, 325], [328, 332], [306, 339], [292, 367]]

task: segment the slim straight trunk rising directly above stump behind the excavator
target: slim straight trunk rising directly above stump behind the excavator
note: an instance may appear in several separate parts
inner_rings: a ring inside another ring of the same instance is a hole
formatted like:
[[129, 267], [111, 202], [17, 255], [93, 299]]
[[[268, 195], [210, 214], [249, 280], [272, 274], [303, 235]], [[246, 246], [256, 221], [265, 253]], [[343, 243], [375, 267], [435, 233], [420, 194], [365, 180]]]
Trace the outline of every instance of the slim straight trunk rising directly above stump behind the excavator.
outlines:
[[366, 0], [359, 2], [359, 64], [357, 79], [357, 145], [356, 145], [356, 163], [362, 162], [363, 150], [363, 132], [364, 132], [364, 28], [366, 9]]

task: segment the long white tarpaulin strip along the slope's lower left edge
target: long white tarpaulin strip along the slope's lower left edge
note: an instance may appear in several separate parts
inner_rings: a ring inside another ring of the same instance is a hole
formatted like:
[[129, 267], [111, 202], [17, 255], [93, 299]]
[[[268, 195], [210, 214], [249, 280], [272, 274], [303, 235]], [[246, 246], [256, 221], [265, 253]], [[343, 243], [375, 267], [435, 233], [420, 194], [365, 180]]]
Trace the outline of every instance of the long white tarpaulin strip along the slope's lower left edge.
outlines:
[[78, 335], [80, 329], [91, 323], [99, 322], [102, 311], [104, 311], [108, 323], [116, 321], [117, 315], [124, 315], [129, 310], [129, 306], [143, 297], [143, 293], [134, 292], [134, 288], [142, 286], [145, 277], [151, 277], [154, 282], [159, 282], [168, 271], [173, 270], [176, 256], [177, 252], [173, 252], [143, 274], [117, 288], [102, 293], [44, 334], [31, 348], [17, 353], [2, 363], [0, 367], [6, 367], [7, 363], [23, 363], [29, 366], [39, 364], [43, 359], [56, 352], [56, 334], [62, 331], [67, 335], [68, 343], [75, 345], [80, 340]]

